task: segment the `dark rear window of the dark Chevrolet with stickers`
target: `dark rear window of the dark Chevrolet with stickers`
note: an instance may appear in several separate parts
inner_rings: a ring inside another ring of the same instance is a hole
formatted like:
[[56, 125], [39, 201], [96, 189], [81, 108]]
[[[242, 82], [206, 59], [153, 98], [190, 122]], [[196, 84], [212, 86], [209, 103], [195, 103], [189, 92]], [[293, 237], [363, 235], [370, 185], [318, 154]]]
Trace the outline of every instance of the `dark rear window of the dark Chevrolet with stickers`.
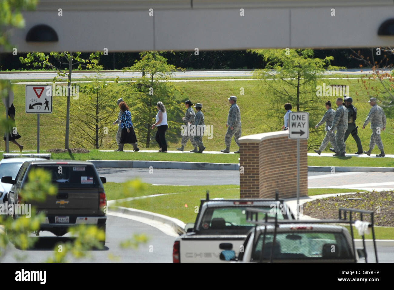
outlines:
[[83, 165], [37, 165], [51, 174], [58, 187], [95, 187], [99, 184], [93, 167]]

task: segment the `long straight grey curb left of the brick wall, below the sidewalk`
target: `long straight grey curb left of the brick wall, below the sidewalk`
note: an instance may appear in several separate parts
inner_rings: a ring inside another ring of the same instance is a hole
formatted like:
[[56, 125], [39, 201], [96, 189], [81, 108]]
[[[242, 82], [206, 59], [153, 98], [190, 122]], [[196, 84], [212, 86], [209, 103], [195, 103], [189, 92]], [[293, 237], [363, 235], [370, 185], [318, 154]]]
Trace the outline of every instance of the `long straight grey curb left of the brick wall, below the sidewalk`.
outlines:
[[236, 163], [208, 163], [208, 162], [177, 162], [177, 161], [123, 161], [123, 160], [87, 160], [95, 167], [110, 168], [159, 168], [186, 170], [239, 170]]

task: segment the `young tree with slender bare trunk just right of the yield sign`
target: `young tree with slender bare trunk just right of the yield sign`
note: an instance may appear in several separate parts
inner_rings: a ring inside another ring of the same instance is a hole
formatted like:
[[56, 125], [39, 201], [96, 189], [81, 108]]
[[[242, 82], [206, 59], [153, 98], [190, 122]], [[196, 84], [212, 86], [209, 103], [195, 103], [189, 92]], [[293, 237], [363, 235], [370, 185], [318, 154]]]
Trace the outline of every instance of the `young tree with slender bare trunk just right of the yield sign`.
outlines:
[[[51, 51], [48, 55], [44, 52], [28, 53], [26, 58], [22, 56], [19, 58], [22, 64], [33, 65], [33, 67], [49, 67], [56, 69], [58, 75], [53, 79], [55, 82], [61, 77], [67, 76], [67, 111], [66, 111], [66, 128], [65, 128], [65, 142], [64, 148], [69, 149], [69, 127], [70, 127], [70, 88], [71, 88], [71, 74], [72, 67], [82, 69], [86, 67], [92, 68], [93, 65], [99, 62], [98, 58], [102, 52], [91, 53], [88, 59], [80, 58], [81, 52], [55, 52]], [[52, 58], [54, 62], [52, 63]], [[64, 65], [68, 65], [68, 71], [62, 69]]]

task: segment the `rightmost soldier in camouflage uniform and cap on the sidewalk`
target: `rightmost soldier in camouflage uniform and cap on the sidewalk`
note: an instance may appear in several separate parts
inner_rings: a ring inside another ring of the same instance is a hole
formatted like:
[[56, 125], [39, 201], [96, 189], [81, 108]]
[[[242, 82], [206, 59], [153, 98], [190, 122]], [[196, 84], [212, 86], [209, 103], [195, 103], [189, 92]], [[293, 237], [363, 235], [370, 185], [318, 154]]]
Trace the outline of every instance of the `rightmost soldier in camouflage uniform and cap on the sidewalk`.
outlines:
[[370, 98], [368, 101], [372, 106], [367, 118], [365, 119], [364, 124], [362, 125], [362, 129], [371, 122], [372, 135], [370, 140], [370, 149], [368, 151], [364, 151], [365, 154], [371, 155], [372, 150], [375, 147], [375, 144], [380, 149], [380, 154], [377, 154], [377, 157], [384, 157], [385, 152], [383, 150], [382, 139], [380, 138], [380, 133], [384, 129], [386, 129], [386, 115], [381, 107], [376, 105], [376, 98]]

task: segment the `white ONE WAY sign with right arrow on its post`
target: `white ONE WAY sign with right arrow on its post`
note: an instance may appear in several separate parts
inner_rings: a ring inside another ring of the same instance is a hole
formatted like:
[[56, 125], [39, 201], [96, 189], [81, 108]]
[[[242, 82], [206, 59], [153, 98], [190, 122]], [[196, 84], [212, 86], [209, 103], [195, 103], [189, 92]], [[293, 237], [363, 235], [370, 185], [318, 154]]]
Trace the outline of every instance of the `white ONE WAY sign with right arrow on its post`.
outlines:
[[299, 220], [299, 140], [309, 138], [309, 112], [289, 114], [289, 139], [297, 140], [297, 220]]

